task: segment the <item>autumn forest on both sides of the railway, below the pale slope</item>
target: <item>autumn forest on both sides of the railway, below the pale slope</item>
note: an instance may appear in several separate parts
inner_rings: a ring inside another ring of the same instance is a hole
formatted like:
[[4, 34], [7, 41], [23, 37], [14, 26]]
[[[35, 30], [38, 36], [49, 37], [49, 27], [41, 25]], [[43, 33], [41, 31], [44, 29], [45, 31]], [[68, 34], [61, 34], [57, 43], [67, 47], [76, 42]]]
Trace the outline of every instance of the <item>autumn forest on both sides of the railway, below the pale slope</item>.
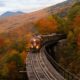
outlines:
[[[57, 47], [60, 55], [58, 63], [80, 77], [80, 3], [76, 2], [63, 17], [50, 14], [39, 19], [34, 23], [34, 28], [39, 34], [54, 32], [67, 34], [63, 48], [60, 45]], [[25, 70], [29, 50], [28, 39], [31, 35], [32, 32], [26, 33], [24, 37], [10, 33], [0, 34], [0, 78], [2, 80], [23, 80], [25, 78], [25, 74], [19, 71]]]

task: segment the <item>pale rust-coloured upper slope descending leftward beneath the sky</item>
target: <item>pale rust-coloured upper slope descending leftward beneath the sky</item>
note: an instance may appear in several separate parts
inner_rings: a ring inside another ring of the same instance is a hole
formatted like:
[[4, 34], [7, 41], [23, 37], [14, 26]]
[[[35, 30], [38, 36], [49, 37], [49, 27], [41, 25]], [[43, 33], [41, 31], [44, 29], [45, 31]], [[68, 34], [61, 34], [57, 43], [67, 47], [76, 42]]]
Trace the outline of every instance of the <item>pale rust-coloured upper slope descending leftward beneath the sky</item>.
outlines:
[[69, 8], [72, 5], [72, 3], [69, 1], [65, 1], [65, 2], [57, 4], [55, 6], [51, 6], [51, 7], [45, 8], [43, 10], [32, 12], [30, 14], [21, 14], [21, 15], [3, 18], [3, 19], [1, 18], [0, 19], [0, 33], [8, 32], [15, 28], [21, 27], [24, 24], [26, 25], [25, 29], [28, 26], [30, 26], [30, 27], [28, 27], [28, 28], [30, 28], [30, 29], [28, 29], [28, 31], [30, 31], [33, 27], [33, 26], [31, 26], [31, 24], [35, 23], [37, 20], [44, 18], [51, 14], [61, 13], [62, 11], [65, 11], [67, 8]]

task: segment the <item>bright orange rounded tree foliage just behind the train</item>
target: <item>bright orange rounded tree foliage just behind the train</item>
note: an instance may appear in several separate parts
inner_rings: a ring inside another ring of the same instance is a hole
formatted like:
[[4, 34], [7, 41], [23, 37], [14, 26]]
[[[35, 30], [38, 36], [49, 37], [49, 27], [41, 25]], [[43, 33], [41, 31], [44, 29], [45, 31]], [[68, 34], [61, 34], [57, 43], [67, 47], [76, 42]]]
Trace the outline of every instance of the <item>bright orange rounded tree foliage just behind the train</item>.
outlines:
[[42, 34], [56, 32], [57, 22], [54, 18], [42, 18], [36, 23], [36, 28]]

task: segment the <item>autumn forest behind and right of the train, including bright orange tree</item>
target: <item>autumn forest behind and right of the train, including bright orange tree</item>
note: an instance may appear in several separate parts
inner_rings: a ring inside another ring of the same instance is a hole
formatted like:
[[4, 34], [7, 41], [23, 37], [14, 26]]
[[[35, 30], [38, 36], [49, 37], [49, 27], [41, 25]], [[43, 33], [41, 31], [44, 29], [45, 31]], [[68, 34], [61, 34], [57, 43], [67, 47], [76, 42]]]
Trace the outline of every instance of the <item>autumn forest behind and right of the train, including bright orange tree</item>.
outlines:
[[[62, 11], [63, 12], [63, 11]], [[53, 32], [67, 34], [65, 43], [57, 46], [58, 63], [80, 77], [80, 2], [76, 2], [65, 16], [52, 14], [36, 23], [41, 34]]]

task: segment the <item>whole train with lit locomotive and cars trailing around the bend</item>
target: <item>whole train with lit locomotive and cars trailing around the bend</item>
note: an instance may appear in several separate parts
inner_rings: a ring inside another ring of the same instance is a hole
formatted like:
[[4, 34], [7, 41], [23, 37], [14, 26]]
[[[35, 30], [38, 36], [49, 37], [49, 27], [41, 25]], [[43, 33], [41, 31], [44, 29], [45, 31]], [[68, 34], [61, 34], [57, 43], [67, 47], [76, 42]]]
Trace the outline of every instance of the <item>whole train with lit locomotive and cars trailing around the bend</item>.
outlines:
[[53, 38], [54, 38], [54, 40], [57, 41], [57, 40], [66, 38], [66, 35], [53, 33], [50, 35], [33, 36], [30, 40], [30, 51], [31, 52], [39, 52], [40, 48], [45, 44], [45, 42], [47, 42]]

